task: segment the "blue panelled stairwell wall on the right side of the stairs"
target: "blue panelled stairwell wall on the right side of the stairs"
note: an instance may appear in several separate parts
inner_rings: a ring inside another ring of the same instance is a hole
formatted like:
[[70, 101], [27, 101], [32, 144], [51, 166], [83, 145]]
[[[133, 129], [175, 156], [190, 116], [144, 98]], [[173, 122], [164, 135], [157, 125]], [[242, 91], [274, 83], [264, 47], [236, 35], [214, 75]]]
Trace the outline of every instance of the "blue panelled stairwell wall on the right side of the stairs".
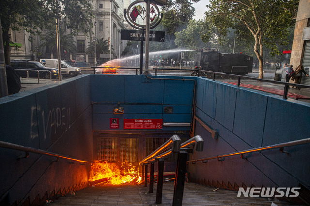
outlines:
[[[218, 139], [196, 123], [195, 134], [204, 139], [204, 150], [191, 159], [242, 151], [255, 147], [309, 138], [310, 103], [284, 100], [280, 96], [238, 88], [197, 78], [196, 116], [218, 131]], [[189, 164], [193, 181], [261, 187], [310, 186], [310, 145], [286, 147], [240, 155], [207, 163]]]

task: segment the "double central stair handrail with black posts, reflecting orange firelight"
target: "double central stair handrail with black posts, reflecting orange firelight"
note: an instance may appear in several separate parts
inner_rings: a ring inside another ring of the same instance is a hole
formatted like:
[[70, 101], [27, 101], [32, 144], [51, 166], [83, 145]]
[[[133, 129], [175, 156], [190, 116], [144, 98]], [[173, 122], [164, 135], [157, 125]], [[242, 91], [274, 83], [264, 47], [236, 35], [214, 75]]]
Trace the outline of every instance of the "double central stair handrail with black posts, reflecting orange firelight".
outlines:
[[[163, 191], [163, 177], [164, 177], [164, 161], [165, 157], [172, 154], [173, 152], [178, 152], [178, 160], [175, 172], [175, 181], [174, 181], [174, 192], [173, 192], [173, 206], [182, 205], [183, 200], [183, 190], [184, 190], [184, 181], [186, 176], [186, 164], [187, 156], [189, 152], [192, 152], [192, 149], [187, 149], [188, 147], [195, 147], [196, 151], [203, 150], [203, 139], [201, 136], [197, 135], [186, 142], [181, 143], [181, 139], [177, 135], [173, 135], [169, 140], [167, 140], [161, 147], [156, 149], [142, 161], [140, 165], [144, 164], [144, 170], [142, 170], [142, 178], [144, 177], [144, 186], [147, 187], [148, 181], [148, 164], [150, 164], [150, 189], [149, 193], [153, 193], [153, 184], [154, 184], [154, 163], [158, 161], [158, 175], [157, 175], [157, 191], [156, 191], [156, 204], [161, 204], [162, 202], [162, 191]], [[163, 152], [165, 149], [172, 146], [172, 148], [166, 152]], [[160, 152], [163, 152], [160, 154]], [[144, 163], [148, 162], [148, 163]], [[145, 175], [143, 175], [145, 174]]]

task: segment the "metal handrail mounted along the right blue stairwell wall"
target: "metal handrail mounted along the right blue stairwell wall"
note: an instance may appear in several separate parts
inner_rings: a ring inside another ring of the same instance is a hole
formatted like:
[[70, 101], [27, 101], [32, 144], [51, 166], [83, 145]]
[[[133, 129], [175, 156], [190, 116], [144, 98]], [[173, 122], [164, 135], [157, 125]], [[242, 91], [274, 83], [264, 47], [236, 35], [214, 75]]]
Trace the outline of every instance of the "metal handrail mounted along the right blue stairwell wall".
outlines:
[[199, 162], [199, 161], [205, 161], [205, 160], [211, 160], [211, 159], [219, 159], [219, 158], [224, 158], [224, 157], [229, 157], [229, 156], [242, 155], [242, 154], [247, 154], [247, 153], [252, 153], [252, 152], [259, 152], [259, 151], [264, 151], [264, 150], [276, 149], [276, 148], [281, 148], [281, 147], [289, 147], [289, 146], [295, 146], [295, 145], [302, 145], [302, 144], [308, 144], [308, 143], [310, 143], [310, 138], [295, 140], [295, 141], [290, 141], [290, 142], [285, 142], [285, 143], [279, 143], [279, 144], [269, 145], [265, 147], [257, 147], [254, 149], [247, 149], [247, 150], [243, 150], [239, 152], [232, 152], [232, 153], [227, 153], [227, 154], [222, 154], [222, 155], [217, 155], [217, 156], [212, 156], [212, 157], [206, 157], [206, 158], [201, 158], [201, 159], [196, 159], [196, 160], [189, 160], [187, 162]]

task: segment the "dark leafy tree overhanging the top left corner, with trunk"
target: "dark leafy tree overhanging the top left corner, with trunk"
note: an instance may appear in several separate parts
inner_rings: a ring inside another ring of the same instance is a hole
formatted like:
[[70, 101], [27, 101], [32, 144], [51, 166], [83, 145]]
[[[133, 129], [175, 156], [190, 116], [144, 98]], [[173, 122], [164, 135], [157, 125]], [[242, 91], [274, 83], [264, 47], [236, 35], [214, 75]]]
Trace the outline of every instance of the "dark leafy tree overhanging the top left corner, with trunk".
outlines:
[[87, 34], [92, 27], [93, 12], [89, 0], [1, 0], [0, 16], [5, 62], [9, 63], [10, 29], [40, 35], [42, 29], [55, 30], [56, 19], [65, 18], [65, 27], [73, 35]]

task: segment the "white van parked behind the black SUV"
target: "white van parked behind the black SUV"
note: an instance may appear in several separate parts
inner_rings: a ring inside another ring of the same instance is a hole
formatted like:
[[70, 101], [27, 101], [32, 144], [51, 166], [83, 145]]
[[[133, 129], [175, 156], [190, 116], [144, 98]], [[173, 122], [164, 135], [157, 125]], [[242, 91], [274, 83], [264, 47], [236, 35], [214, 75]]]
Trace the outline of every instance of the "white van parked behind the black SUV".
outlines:
[[[51, 68], [58, 68], [58, 60], [57, 59], [40, 59], [40, 63]], [[81, 74], [82, 71], [78, 67], [72, 67], [71, 65], [67, 64], [64, 61], [61, 61], [62, 67], [62, 75], [70, 75], [70, 76], [77, 76]]]

